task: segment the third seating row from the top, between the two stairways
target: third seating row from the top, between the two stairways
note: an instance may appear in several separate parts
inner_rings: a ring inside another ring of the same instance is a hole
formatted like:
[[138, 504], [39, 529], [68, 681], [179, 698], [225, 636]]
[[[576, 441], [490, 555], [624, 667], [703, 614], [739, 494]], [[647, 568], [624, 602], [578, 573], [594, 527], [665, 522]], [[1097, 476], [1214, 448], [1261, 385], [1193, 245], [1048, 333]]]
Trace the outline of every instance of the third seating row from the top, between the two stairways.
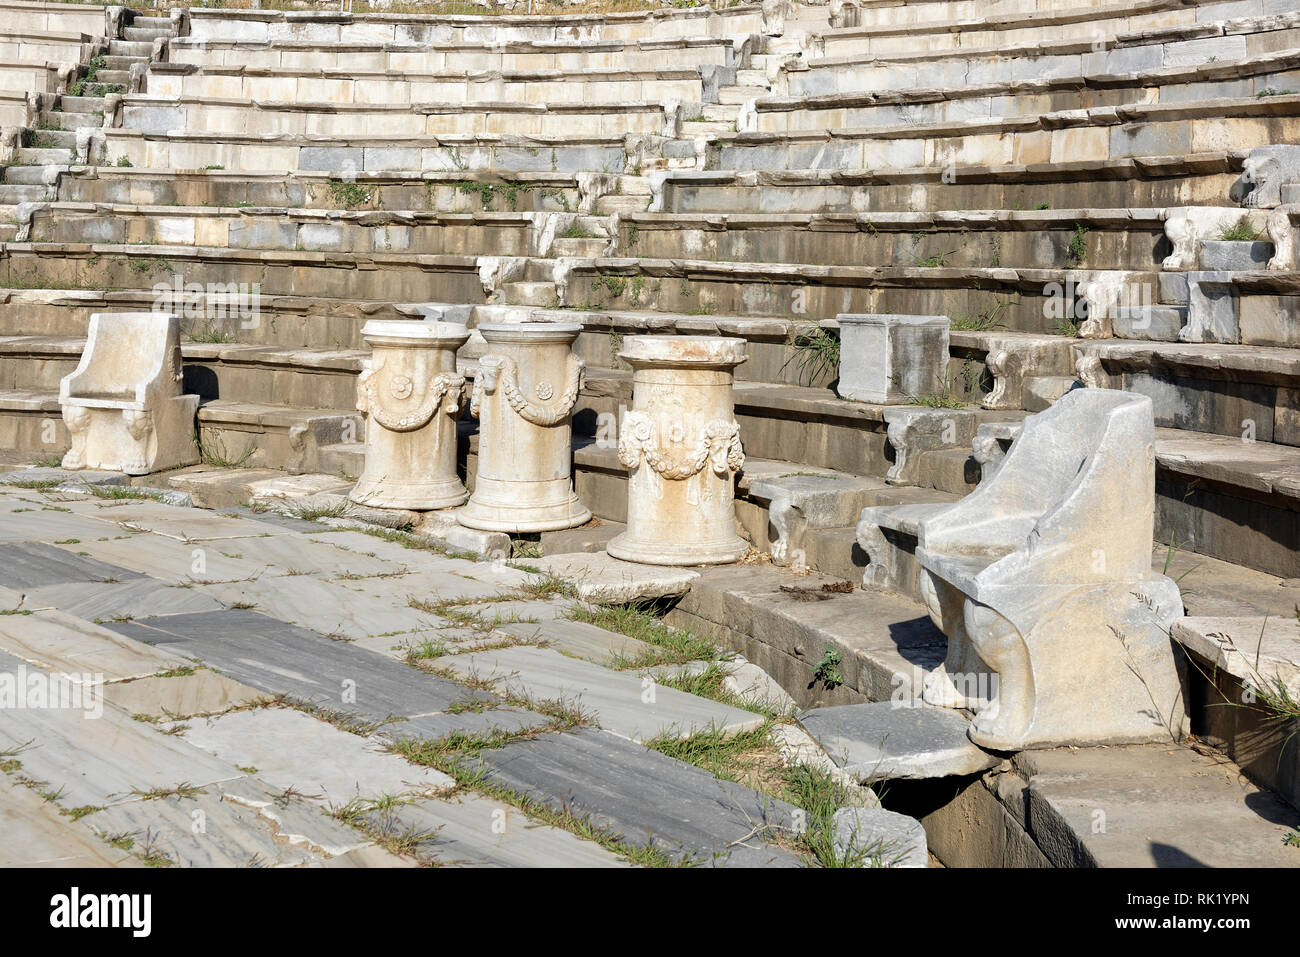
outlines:
[[[179, 100], [263, 100], [333, 104], [436, 103], [636, 103], [668, 100], [701, 103], [705, 83], [689, 62], [673, 69], [361, 72], [250, 68], [202, 72], [155, 64], [140, 91]], [[715, 86], [716, 95], [716, 86]]]

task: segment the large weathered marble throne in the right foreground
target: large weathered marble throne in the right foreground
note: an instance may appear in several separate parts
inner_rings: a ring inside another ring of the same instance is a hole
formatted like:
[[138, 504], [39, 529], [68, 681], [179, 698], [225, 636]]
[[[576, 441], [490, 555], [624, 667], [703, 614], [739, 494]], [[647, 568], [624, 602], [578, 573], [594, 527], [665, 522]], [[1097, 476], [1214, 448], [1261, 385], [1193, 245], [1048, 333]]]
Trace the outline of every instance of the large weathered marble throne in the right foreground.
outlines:
[[988, 481], [919, 523], [949, 640], [926, 700], [974, 709], [971, 740], [996, 750], [1178, 736], [1183, 603], [1150, 571], [1153, 521], [1150, 399], [1079, 390], [1027, 419]]

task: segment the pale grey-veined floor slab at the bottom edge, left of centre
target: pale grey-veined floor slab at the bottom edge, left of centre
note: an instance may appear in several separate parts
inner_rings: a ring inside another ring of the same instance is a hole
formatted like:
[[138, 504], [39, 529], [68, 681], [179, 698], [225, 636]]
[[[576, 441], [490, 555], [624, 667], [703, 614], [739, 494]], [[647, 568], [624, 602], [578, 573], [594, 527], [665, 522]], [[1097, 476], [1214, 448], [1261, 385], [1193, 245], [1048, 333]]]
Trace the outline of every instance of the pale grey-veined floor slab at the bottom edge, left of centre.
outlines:
[[294, 867], [369, 843], [320, 807], [292, 797], [277, 804], [276, 794], [260, 791], [261, 809], [224, 800], [213, 787], [198, 794], [105, 807], [78, 827], [117, 839], [129, 836], [133, 852], [159, 854], [181, 867]]

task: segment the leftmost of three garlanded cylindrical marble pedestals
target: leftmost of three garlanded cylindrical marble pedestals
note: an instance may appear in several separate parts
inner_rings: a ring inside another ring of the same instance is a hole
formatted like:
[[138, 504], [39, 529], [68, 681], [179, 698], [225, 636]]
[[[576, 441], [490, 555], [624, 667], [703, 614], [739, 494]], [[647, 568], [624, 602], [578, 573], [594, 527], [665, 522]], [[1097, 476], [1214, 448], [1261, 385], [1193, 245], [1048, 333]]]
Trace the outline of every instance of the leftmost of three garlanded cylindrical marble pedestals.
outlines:
[[370, 358], [356, 385], [365, 415], [365, 472], [348, 498], [377, 508], [426, 511], [462, 505], [456, 417], [465, 377], [456, 350], [463, 325], [370, 320], [361, 328]]

